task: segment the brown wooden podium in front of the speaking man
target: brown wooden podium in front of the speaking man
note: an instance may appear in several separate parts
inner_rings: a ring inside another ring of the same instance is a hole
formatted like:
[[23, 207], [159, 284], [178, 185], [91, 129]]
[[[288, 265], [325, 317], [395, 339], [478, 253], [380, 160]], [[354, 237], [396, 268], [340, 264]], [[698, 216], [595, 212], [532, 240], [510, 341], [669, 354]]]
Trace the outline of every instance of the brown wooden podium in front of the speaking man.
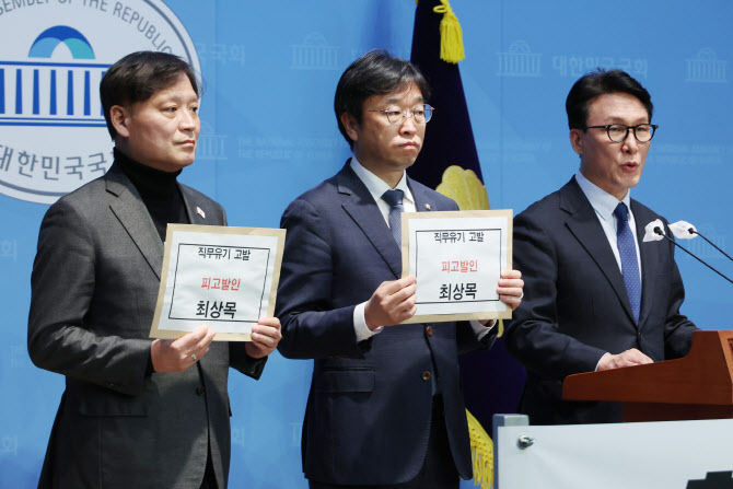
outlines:
[[694, 331], [678, 360], [569, 375], [562, 397], [620, 401], [626, 422], [733, 418], [733, 330]]

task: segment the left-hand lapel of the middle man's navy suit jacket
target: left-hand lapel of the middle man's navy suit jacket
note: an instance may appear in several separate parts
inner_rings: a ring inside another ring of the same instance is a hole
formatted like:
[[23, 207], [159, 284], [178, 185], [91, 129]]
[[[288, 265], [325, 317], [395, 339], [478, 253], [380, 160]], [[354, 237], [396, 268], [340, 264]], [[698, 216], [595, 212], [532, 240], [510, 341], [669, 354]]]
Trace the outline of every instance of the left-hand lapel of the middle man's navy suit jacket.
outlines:
[[353, 219], [372, 246], [389, 266], [395, 278], [403, 272], [402, 253], [389, 226], [366, 186], [359, 179], [349, 162], [337, 175], [338, 193], [344, 197], [341, 207]]

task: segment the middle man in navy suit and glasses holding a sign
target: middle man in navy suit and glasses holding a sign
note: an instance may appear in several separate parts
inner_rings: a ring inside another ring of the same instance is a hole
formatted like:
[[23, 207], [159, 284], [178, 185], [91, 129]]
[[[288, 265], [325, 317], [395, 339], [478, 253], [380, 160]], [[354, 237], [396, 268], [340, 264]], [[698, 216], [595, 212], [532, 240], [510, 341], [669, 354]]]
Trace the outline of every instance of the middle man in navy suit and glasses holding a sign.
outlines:
[[[457, 488], [458, 475], [472, 477], [457, 356], [488, 347], [492, 324], [398, 325], [416, 311], [415, 277], [399, 279], [400, 206], [457, 210], [405, 173], [428, 97], [408, 61], [371, 51], [353, 62], [335, 97], [353, 158], [282, 216], [279, 350], [315, 359], [302, 440], [312, 488]], [[501, 300], [515, 307], [520, 273], [503, 277]]]

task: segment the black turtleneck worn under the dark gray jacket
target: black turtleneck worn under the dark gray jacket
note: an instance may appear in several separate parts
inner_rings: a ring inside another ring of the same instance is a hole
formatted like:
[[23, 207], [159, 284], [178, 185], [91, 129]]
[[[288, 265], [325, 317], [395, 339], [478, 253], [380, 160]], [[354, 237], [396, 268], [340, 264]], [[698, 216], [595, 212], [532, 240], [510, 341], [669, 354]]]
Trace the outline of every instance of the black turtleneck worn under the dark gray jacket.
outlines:
[[142, 197], [161, 241], [165, 241], [165, 229], [168, 223], [189, 223], [186, 205], [176, 182], [181, 170], [167, 173], [151, 168], [127, 156], [117, 148], [115, 148], [115, 162], [121, 166], [125, 175], [132, 181], [132, 185]]

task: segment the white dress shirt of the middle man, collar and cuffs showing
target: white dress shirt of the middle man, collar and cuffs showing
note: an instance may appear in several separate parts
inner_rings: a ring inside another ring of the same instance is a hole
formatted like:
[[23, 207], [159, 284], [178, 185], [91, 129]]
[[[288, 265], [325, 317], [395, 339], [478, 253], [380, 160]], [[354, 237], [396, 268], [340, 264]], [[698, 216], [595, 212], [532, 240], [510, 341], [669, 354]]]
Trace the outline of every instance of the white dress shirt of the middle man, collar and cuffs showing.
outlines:
[[[379, 176], [374, 175], [372, 172], [363, 167], [361, 163], [357, 161], [356, 156], [351, 158], [351, 170], [353, 170], [359, 179], [361, 179], [361, 182], [363, 182], [363, 184], [366, 186], [366, 189], [372, 195], [374, 201], [376, 202], [376, 206], [380, 208], [380, 211], [382, 212], [384, 222], [388, 226], [389, 205], [382, 198], [382, 196], [384, 195], [385, 191], [393, 190], [393, 188], [389, 187], [389, 185], [387, 185], [387, 183], [384, 182], [382, 178], [380, 178]], [[407, 177], [404, 171], [403, 176], [399, 179], [399, 183], [397, 183], [397, 185], [395, 186], [394, 190], [403, 191], [404, 194], [403, 207], [405, 208], [405, 212], [416, 212], [417, 208], [415, 207], [415, 198], [412, 197], [410, 188], [407, 186]], [[366, 302], [362, 302], [361, 304], [358, 304], [353, 310], [353, 329], [357, 333], [357, 341], [363, 341], [368, 338], [371, 338], [372, 336], [376, 335], [377, 333], [381, 333], [382, 329], [384, 329], [384, 326], [380, 326], [374, 330], [369, 329], [369, 327], [366, 326], [366, 317], [364, 315], [365, 306]], [[487, 323], [486, 326], [484, 326], [478, 321], [470, 322], [470, 326], [474, 329], [474, 333], [476, 334], [476, 337], [479, 340], [484, 338], [484, 336], [491, 330], [495, 324], [496, 321]]]

